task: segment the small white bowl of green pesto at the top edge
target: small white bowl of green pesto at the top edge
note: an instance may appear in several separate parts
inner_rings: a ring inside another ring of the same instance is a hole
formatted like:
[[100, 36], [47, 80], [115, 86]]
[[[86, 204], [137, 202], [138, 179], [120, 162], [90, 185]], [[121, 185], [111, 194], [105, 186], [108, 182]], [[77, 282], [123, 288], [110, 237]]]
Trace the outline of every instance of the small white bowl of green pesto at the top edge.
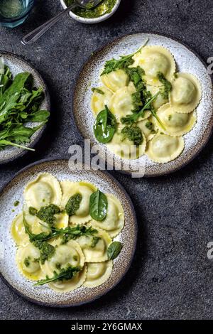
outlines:
[[[74, 0], [60, 0], [63, 9], [75, 3]], [[94, 9], [82, 9], [77, 7], [70, 11], [70, 16], [80, 23], [99, 23], [110, 18], [119, 8], [121, 0], [102, 0]]]

